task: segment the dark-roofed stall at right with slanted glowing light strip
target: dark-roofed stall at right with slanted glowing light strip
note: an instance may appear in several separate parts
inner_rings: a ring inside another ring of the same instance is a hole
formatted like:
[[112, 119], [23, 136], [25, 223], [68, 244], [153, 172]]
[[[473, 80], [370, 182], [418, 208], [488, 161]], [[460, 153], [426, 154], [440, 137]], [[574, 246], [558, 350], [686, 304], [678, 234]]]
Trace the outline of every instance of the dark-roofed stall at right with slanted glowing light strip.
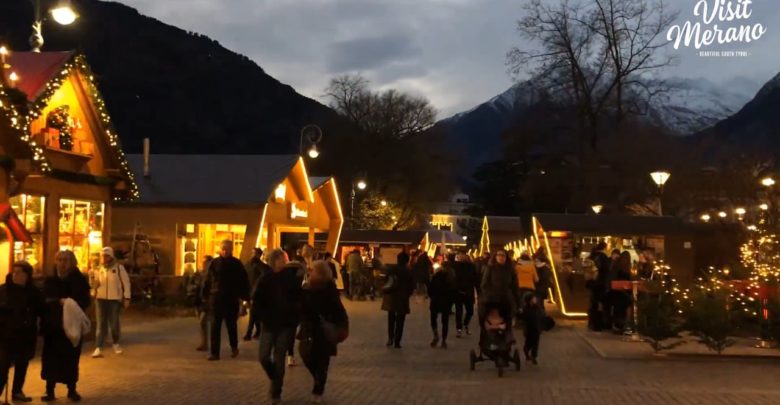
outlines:
[[694, 235], [678, 218], [628, 215], [534, 214], [530, 235], [510, 242], [507, 248], [549, 252], [553, 267], [554, 296], [566, 316], [587, 316], [589, 291], [578, 264], [599, 242], [627, 250], [636, 260], [639, 249], [649, 249], [657, 261], [670, 267], [681, 284], [692, 282], [695, 271]]

